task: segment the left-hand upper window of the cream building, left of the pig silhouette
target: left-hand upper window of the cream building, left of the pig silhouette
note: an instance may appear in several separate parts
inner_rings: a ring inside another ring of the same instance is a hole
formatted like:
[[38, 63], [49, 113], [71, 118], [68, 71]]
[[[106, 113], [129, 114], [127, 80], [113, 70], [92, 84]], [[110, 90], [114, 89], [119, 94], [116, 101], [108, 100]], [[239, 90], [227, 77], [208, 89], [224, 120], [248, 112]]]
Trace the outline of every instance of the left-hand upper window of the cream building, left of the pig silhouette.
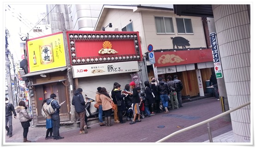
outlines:
[[174, 33], [173, 18], [155, 17], [156, 33]]

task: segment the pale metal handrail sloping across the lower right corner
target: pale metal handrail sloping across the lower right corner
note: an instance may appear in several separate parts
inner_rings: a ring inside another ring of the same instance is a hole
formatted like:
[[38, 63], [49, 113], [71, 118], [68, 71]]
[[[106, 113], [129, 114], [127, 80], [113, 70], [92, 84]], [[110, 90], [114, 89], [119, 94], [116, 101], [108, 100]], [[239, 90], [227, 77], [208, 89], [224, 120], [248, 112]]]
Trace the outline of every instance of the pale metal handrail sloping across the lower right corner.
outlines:
[[213, 120], [215, 120], [215, 119], [217, 119], [217, 118], [220, 118], [220, 117], [222, 117], [222, 116], [225, 116], [225, 115], [229, 114], [230, 112], [236, 111], [236, 110], [238, 110], [238, 109], [240, 109], [240, 108], [242, 108], [242, 107], [248, 106], [248, 105], [250, 105], [250, 101], [247, 102], [247, 103], [244, 103], [244, 104], [242, 104], [242, 105], [240, 105], [240, 106], [238, 106], [238, 107], [232, 108], [231, 110], [228, 110], [228, 111], [226, 111], [226, 112], [220, 113], [220, 114], [217, 115], [217, 116], [214, 116], [214, 117], [212, 117], [212, 118], [209, 118], [209, 119], [207, 119], [207, 120], [204, 120], [204, 121], [202, 121], [202, 122], [200, 122], [200, 123], [191, 125], [191, 126], [186, 127], [185, 129], [182, 129], [182, 130], [175, 131], [174, 133], [172, 133], [172, 134], [170, 134], [170, 135], [168, 135], [168, 136], [166, 136], [166, 137], [164, 137], [164, 138], [158, 140], [157, 142], [164, 142], [164, 141], [166, 141], [167, 139], [171, 138], [172, 136], [175, 136], [175, 135], [177, 135], [177, 134], [179, 134], [179, 133], [182, 133], [182, 132], [184, 132], [184, 131], [187, 131], [187, 130], [191, 130], [191, 129], [196, 128], [196, 127], [198, 127], [198, 126], [200, 126], [200, 125], [207, 124], [207, 123], [209, 123], [210, 121], [213, 121]]

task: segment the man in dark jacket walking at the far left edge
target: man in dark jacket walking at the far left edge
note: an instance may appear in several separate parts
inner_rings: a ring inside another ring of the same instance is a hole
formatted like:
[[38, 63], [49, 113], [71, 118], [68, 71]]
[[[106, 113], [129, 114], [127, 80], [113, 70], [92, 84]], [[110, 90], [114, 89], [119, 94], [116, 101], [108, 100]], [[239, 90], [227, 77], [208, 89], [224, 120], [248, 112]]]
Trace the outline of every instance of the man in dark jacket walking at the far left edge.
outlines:
[[[12, 137], [12, 112], [14, 114], [14, 118], [17, 117], [16, 112], [12, 103], [9, 102], [8, 98], [6, 98], [6, 136]], [[8, 125], [9, 127], [8, 127]]]

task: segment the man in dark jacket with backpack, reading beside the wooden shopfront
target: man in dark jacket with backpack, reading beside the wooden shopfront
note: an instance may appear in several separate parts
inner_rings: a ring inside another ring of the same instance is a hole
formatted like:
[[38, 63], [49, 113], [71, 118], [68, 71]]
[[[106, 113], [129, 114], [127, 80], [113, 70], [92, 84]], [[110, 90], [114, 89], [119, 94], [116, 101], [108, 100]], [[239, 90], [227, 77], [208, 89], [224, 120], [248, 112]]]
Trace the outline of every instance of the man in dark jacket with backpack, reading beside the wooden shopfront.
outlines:
[[[57, 95], [51, 94], [50, 98], [46, 102], [47, 105], [51, 104], [55, 112], [51, 114], [51, 118], [53, 119], [53, 134], [54, 134], [54, 139], [59, 140], [63, 139], [64, 137], [60, 136], [60, 107], [61, 105], [56, 101]], [[52, 101], [54, 100], [54, 101]]]

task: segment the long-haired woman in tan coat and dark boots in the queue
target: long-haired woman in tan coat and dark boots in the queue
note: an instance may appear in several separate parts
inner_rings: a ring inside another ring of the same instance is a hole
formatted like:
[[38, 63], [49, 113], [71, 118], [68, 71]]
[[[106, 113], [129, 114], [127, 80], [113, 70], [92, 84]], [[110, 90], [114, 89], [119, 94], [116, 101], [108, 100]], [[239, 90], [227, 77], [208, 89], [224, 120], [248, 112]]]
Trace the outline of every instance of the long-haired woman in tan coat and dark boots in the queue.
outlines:
[[112, 105], [111, 102], [113, 103], [111, 97], [107, 94], [107, 89], [106, 88], [101, 88], [100, 91], [100, 99], [102, 103], [102, 110], [105, 114], [105, 124], [106, 126], [111, 126], [111, 113], [112, 113]]

